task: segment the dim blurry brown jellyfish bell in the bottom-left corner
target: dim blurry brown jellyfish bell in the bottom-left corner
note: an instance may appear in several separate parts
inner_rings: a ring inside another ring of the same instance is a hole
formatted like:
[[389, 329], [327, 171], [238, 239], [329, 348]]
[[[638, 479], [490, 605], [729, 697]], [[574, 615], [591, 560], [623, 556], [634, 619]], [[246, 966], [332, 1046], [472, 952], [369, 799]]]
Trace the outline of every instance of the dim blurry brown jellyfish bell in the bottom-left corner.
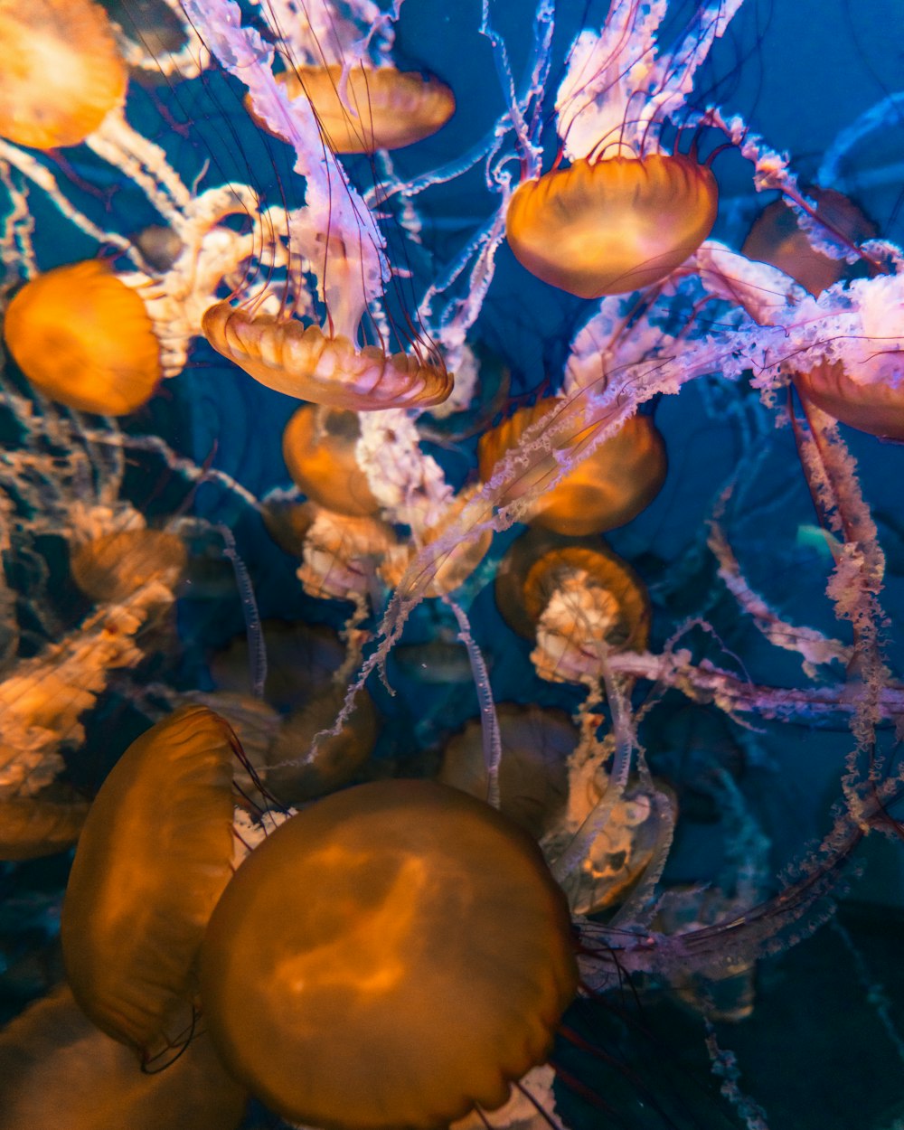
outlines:
[[0, 1032], [0, 1130], [232, 1130], [246, 1096], [198, 1035], [146, 1074], [60, 985]]

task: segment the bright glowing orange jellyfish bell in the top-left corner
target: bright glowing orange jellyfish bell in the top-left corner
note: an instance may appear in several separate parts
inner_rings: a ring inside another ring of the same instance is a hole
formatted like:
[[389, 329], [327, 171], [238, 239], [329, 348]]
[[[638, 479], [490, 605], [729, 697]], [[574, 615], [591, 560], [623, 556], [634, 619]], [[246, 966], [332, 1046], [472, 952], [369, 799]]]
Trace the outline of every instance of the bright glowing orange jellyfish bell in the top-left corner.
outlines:
[[128, 72], [94, 0], [0, 0], [0, 137], [78, 145], [125, 97]]

